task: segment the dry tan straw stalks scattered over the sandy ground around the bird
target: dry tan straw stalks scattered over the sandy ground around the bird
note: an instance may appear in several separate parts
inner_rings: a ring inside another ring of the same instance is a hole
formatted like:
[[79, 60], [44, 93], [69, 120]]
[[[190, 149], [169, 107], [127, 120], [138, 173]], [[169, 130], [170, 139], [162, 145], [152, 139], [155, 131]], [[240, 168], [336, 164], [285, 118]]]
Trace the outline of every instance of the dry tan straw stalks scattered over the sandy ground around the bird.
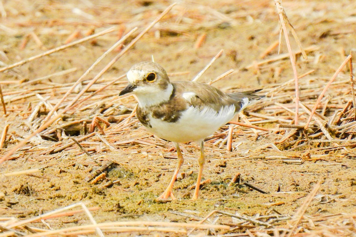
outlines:
[[[0, 1], [1, 3], [1, 1]], [[271, 55], [271, 52], [277, 47], [277, 42], [271, 43], [269, 47], [261, 54], [261, 60], [252, 63], [245, 68], [276, 68], [285, 58], [290, 58], [293, 69], [293, 79], [284, 82], [269, 84], [264, 88], [263, 93], [265, 98], [257, 101], [253, 107], [247, 109], [246, 114], [241, 114], [240, 118], [243, 122], [231, 121], [229, 125], [224, 126], [219, 133], [216, 133], [206, 139], [206, 148], [209, 152], [216, 155], [225, 156], [230, 152], [245, 152], [239, 146], [244, 146], [245, 140], [265, 139], [262, 145], [248, 149], [248, 156], [242, 155], [232, 157], [230, 159], [261, 159], [261, 160], [281, 160], [284, 165], [303, 164], [305, 162], [313, 163], [316, 161], [325, 162], [324, 165], [344, 165], [340, 162], [328, 160], [325, 155], [338, 151], [340, 155], [348, 154], [351, 149], [356, 147], [356, 110], [355, 110], [355, 93], [354, 79], [352, 74], [352, 56], [346, 57], [344, 62], [340, 62], [339, 68], [335, 74], [329, 78], [320, 78], [313, 75], [314, 70], [309, 70], [304, 73], [297, 74], [295, 68], [295, 58], [297, 54], [310, 54], [315, 52], [320, 47], [318, 45], [310, 45], [304, 50], [300, 46], [299, 40], [292, 24], [289, 22], [286, 13], [283, 10], [281, 1], [275, 1], [277, 14], [281, 22], [281, 32], [283, 29], [284, 36], [287, 42], [288, 53], [281, 55]], [[76, 156], [91, 157], [95, 162], [100, 164], [97, 173], [90, 173], [88, 182], [99, 184], [101, 179], [105, 179], [106, 173], [113, 162], [104, 163], [98, 162], [98, 157], [102, 152], [122, 151], [129, 153], [132, 147], [145, 147], [146, 150], [161, 152], [162, 147], [166, 150], [167, 142], [148, 134], [146, 131], [138, 128], [135, 133], [132, 133], [132, 126], [137, 127], [137, 118], [135, 117], [136, 107], [121, 108], [123, 102], [125, 104], [135, 104], [133, 96], [125, 96], [117, 98], [117, 91], [121, 90], [126, 81], [121, 81], [125, 75], [117, 78], [101, 79], [101, 76], [108, 70], [122, 55], [132, 47], [147, 31], [161, 21], [163, 16], [172, 9], [175, 4], [169, 6], [160, 14], [156, 20], [150, 23], [141, 31], [138, 36], [126, 44], [126, 47], [121, 49], [119, 53], [96, 74], [93, 79], [86, 79], [89, 72], [97, 66], [109, 52], [117, 49], [124, 41], [128, 41], [133, 37], [136, 28], [133, 28], [128, 33], [120, 30], [121, 35], [119, 41], [112, 45], [96, 62], [74, 83], [58, 85], [53, 82], [47, 82], [49, 77], [54, 77], [63, 74], [69, 74], [75, 71], [75, 68], [66, 71], [49, 74], [44, 77], [30, 80], [28, 82], [18, 82], [17, 87], [28, 86], [25, 90], [8, 89], [1, 84], [0, 96], [2, 108], [9, 122], [4, 124], [1, 132], [0, 163], [9, 159], [17, 159], [25, 155], [26, 152], [31, 152], [31, 157], [41, 156], [50, 160], [53, 154], [65, 150]], [[177, 8], [179, 5], [177, 6]], [[1, 9], [0, 9], [1, 10]], [[235, 20], [225, 16], [221, 12], [211, 8], [202, 7], [199, 10], [210, 11], [216, 17], [217, 23], [235, 24]], [[184, 11], [188, 11], [185, 9]], [[188, 12], [189, 13], [189, 12]], [[244, 17], [247, 13], [243, 12]], [[4, 14], [3, 14], [4, 15]], [[184, 14], [181, 14], [183, 18]], [[178, 17], [179, 18], [179, 17]], [[182, 20], [182, 19], [181, 19]], [[179, 19], [177, 20], [179, 22]], [[182, 21], [184, 22], [184, 21]], [[197, 29], [204, 27], [204, 23], [199, 26], [184, 25], [178, 23], [167, 23], [167, 25], [156, 25], [159, 31], [169, 30], [173, 33], [184, 33], [188, 28]], [[195, 28], [194, 28], [195, 27]], [[299, 50], [294, 50], [290, 47], [288, 32], [292, 31], [295, 40], [298, 43]], [[31, 60], [58, 52], [73, 45], [77, 45], [90, 39], [95, 39], [104, 34], [114, 31], [114, 28], [106, 29], [97, 34], [85, 37], [78, 41], [68, 43], [61, 47], [52, 50], [47, 50], [44, 53], [32, 56], [28, 59], [21, 60], [15, 64], [5, 66], [0, 69], [0, 72], [23, 65]], [[78, 32], [67, 38], [66, 42], [70, 42], [78, 36]], [[36, 34], [29, 34], [28, 37], [36, 38]], [[26, 38], [28, 38], [26, 37]], [[37, 37], [38, 38], [38, 37]], [[195, 44], [196, 48], [203, 46], [206, 39], [205, 34], [200, 34]], [[28, 40], [28, 39], [26, 39]], [[170, 40], [169, 38], [167, 40]], [[174, 40], [174, 39], [172, 39]], [[279, 44], [281, 39], [279, 40]], [[20, 47], [25, 48], [26, 42]], [[38, 47], [44, 47], [41, 41], [37, 40]], [[198, 80], [199, 77], [209, 67], [214, 64], [214, 61], [222, 54], [222, 50], [210, 61], [209, 64], [196, 76], [193, 80]], [[350, 62], [350, 78], [348, 75], [342, 74], [342, 70]], [[210, 69], [211, 70], [211, 69]], [[278, 70], [275, 70], [278, 71]], [[209, 82], [212, 84], [225, 76], [239, 72], [239, 70], [229, 70]], [[187, 74], [187, 72], [173, 72], [170, 76]], [[341, 79], [337, 79], [337, 75], [341, 75]], [[45, 85], [32, 85], [33, 82], [44, 82]], [[294, 85], [293, 85], [294, 82]], [[351, 85], [351, 88], [350, 88]], [[108, 87], [114, 88], [112, 91], [106, 90]], [[1, 88], [5, 88], [1, 90]], [[77, 91], [78, 89], [78, 91]], [[91, 91], [89, 91], [89, 89]], [[48, 96], [53, 96], [53, 91], [56, 92], [54, 106], [48, 103]], [[75, 92], [76, 91], [76, 92]], [[329, 96], [326, 95], [329, 92]], [[31, 102], [31, 106], [20, 103], [21, 99], [26, 99]], [[7, 107], [5, 107], [5, 105]], [[9, 106], [11, 105], [11, 106]], [[27, 107], [26, 107], [27, 106]], [[31, 108], [30, 108], [31, 107]], [[46, 115], [43, 114], [46, 111]], [[117, 115], [120, 111], [122, 114]], [[56, 114], [57, 113], [57, 114]], [[100, 116], [94, 116], [100, 114]], [[63, 116], [69, 116], [71, 120], [62, 119]], [[26, 118], [25, 122], [18, 122], [17, 117]], [[12, 128], [23, 126], [28, 128], [23, 131], [24, 139], [14, 142], [14, 135], [9, 133]], [[81, 135], [72, 136], [68, 139], [65, 132], [77, 131]], [[238, 134], [238, 135], [236, 135]], [[238, 136], [245, 138], [239, 139]], [[118, 139], [119, 138], [119, 139]], [[12, 139], [12, 140], [11, 140]], [[52, 141], [51, 145], [46, 145], [43, 141]], [[25, 146], [27, 144], [27, 146]], [[221, 149], [224, 148], [224, 149]], [[226, 149], [225, 149], [226, 148]], [[184, 147], [183, 147], [184, 149]], [[305, 150], [308, 153], [305, 154]], [[298, 156], [295, 156], [295, 153]], [[188, 152], [186, 152], [188, 153]], [[165, 158], [176, 158], [165, 155]], [[91, 161], [90, 161], [91, 162]], [[7, 163], [5, 163], [7, 164]], [[316, 165], [318, 165], [316, 163]], [[31, 175], [38, 172], [38, 169], [27, 169], [23, 171], [6, 172], [1, 175], [2, 179], [10, 179], [19, 175]], [[231, 185], [242, 185], [252, 188], [258, 192], [267, 193], [262, 187], [259, 189], [250, 182], [242, 181], [241, 174], [235, 173], [232, 177], [234, 182]], [[39, 176], [40, 177], [40, 176]], [[42, 178], [42, 177], [41, 177]], [[241, 182], [240, 182], [241, 178]], [[119, 183], [120, 180], [114, 180], [107, 183], [101, 183], [100, 189], [110, 188], [112, 185]], [[206, 182], [211, 182], [207, 180]], [[240, 215], [235, 211], [213, 210], [208, 215], [198, 216], [198, 222], [193, 223], [175, 223], [175, 222], [151, 222], [151, 221], [125, 221], [125, 222], [108, 222], [98, 223], [93, 217], [98, 207], [87, 207], [88, 203], [75, 203], [65, 208], [50, 211], [48, 213], [33, 217], [18, 220], [15, 217], [0, 218], [1, 236], [79, 236], [89, 233], [105, 236], [107, 233], [168, 233], [167, 235], [205, 235], [206, 230], [213, 229], [221, 237], [231, 236], [351, 236], [355, 233], [356, 216], [354, 214], [337, 213], [333, 215], [323, 214], [308, 214], [308, 207], [315, 197], [318, 195], [318, 190], [323, 184], [319, 181], [315, 183], [314, 188], [305, 195], [302, 206], [295, 212], [281, 214], [274, 207], [283, 205], [283, 202], [273, 202], [261, 204], [270, 207], [270, 211], [266, 215]], [[256, 192], [253, 191], [253, 192]], [[92, 213], [93, 212], [93, 213]], [[48, 230], [35, 227], [34, 223], [45, 220], [60, 218], [63, 216], [80, 215], [85, 213], [88, 221], [91, 224], [78, 225], [57, 230]], [[177, 212], [178, 213], [178, 212]], [[180, 215], [186, 215], [179, 213]], [[214, 218], [214, 220], [212, 220]], [[208, 222], [212, 221], [212, 222]], [[216, 223], [215, 223], [216, 222]], [[220, 224], [219, 224], [220, 223]], [[204, 232], [203, 232], [204, 229]]]

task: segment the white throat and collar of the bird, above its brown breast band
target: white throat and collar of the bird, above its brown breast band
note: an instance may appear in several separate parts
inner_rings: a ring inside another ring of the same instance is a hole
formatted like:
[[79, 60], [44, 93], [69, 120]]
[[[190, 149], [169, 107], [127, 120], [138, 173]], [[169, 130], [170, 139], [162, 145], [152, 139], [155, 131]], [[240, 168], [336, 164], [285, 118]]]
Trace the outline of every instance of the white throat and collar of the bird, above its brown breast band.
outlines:
[[171, 98], [173, 85], [168, 84], [166, 90], [157, 87], [137, 87], [134, 91], [141, 108], [155, 106]]

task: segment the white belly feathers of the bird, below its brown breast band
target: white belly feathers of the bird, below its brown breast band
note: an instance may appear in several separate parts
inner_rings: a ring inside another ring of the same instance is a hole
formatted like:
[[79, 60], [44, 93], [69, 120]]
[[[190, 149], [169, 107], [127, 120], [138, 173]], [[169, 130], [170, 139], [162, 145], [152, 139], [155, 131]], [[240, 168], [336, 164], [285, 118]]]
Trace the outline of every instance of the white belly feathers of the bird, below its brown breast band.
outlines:
[[179, 120], [173, 123], [150, 116], [152, 128], [147, 127], [147, 130], [168, 141], [199, 141], [229, 122], [234, 114], [234, 105], [224, 106], [218, 113], [209, 107], [200, 110], [190, 106], [181, 114]]

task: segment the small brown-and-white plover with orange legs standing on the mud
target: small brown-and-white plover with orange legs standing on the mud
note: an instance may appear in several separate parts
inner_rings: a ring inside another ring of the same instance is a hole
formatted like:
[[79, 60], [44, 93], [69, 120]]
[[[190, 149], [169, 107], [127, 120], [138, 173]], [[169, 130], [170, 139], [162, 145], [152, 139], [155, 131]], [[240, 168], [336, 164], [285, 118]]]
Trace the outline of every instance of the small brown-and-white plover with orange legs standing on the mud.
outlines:
[[136, 117], [145, 128], [173, 142], [178, 163], [166, 190], [157, 200], [175, 200], [173, 185], [184, 158], [179, 143], [195, 141], [200, 145], [198, 178], [191, 200], [198, 199], [205, 162], [204, 139], [228, 123], [251, 102], [263, 96], [262, 90], [225, 93], [203, 82], [171, 82], [163, 67], [155, 62], [133, 65], [126, 74], [128, 85], [119, 96], [132, 92], [138, 101]]

